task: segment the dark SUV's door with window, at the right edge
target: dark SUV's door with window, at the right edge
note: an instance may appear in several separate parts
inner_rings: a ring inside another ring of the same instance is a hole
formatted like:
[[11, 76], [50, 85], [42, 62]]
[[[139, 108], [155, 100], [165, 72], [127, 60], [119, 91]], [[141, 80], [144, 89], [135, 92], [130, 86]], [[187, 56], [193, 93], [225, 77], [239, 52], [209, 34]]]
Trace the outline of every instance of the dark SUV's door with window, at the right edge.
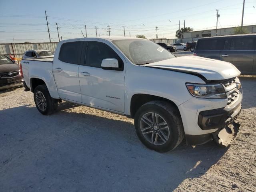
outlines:
[[224, 50], [220, 53], [220, 59], [232, 63], [242, 74], [252, 74], [254, 62], [254, 38], [234, 37], [227, 38]]

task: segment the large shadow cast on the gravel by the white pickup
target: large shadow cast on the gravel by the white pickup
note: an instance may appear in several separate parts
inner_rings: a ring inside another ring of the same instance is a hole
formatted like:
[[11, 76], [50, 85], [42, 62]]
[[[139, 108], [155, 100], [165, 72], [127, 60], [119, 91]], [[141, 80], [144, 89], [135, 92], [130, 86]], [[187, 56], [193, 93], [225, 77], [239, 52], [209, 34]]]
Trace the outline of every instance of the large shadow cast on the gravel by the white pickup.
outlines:
[[10, 160], [0, 164], [2, 191], [172, 191], [207, 174], [227, 150], [209, 142], [154, 152], [132, 120], [78, 106], [60, 103], [52, 116], [35, 106], [0, 111], [0, 161]]

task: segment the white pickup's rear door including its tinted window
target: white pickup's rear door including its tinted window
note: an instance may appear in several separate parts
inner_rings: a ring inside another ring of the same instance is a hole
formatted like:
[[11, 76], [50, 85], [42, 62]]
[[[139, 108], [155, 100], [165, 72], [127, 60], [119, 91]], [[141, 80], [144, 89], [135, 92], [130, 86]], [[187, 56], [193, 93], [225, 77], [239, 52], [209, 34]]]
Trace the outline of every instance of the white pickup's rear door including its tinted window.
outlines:
[[83, 41], [62, 44], [58, 59], [54, 59], [52, 70], [61, 98], [82, 102], [78, 67]]

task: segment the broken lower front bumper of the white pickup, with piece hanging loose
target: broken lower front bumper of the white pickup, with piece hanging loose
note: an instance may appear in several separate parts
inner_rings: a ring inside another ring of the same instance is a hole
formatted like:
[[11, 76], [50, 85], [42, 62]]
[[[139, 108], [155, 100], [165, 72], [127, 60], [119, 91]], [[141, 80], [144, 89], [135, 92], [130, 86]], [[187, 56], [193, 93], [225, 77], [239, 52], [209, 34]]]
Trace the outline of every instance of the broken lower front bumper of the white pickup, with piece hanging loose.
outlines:
[[219, 146], [227, 147], [234, 142], [239, 133], [240, 124], [236, 122], [242, 109], [242, 96], [232, 106], [200, 112], [198, 126], [202, 130], [218, 129], [203, 135], [186, 135], [188, 145], [204, 144], [214, 140]]

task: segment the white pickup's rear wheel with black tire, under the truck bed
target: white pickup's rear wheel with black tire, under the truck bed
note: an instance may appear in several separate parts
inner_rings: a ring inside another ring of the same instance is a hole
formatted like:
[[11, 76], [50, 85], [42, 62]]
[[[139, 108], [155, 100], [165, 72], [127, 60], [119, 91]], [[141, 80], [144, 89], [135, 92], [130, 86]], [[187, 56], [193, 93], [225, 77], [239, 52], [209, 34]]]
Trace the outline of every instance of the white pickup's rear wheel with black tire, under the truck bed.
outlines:
[[43, 115], [52, 114], [58, 106], [58, 100], [51, 98], [46, 85], [39, 85], [34, 89], [34, 101], [36, 108]]

